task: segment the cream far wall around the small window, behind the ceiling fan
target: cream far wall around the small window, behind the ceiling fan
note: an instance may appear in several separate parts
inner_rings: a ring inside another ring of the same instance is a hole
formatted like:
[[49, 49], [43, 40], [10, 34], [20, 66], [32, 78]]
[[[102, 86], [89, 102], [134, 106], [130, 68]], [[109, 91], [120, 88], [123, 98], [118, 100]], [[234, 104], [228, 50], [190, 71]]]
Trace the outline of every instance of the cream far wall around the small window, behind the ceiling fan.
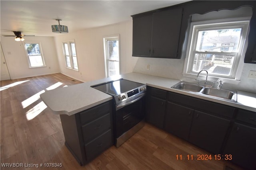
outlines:
[[[53, 37], [24, 37], [25, 41], [22, 42], [14, 41], [14, 38], [15, 37], [1, 37], [2, 49], [11, 79], [60, 72]], [[24, 47], [25, 42], [40, 42], [46, 67], [29, 68]]]

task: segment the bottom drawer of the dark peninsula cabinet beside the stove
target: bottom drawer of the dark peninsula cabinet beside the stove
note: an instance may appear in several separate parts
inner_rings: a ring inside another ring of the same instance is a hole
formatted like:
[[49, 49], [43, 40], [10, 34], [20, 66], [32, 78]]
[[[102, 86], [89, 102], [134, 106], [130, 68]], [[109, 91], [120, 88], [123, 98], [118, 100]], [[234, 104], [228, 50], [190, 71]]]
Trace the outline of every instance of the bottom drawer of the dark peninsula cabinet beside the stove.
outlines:
[[104, 150], [108, 149], [112, 145], [112, 132], [111, 130], [108, 130], [104, 134], [100, 135], [98, 138], [94, 139], [92, 142], [85, 145], [87, 161], [92, 160], [93, 158], [98, 156], [98, 154], [102, 153]]

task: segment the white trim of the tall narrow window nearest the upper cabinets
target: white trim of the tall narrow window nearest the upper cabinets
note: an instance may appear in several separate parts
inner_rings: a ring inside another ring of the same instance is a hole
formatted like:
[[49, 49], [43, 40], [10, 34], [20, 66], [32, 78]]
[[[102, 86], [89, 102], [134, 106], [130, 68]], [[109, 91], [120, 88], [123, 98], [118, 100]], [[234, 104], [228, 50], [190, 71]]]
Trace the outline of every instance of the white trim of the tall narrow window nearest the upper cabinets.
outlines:
[[[108, 60], [107, 60], [107, 54], [105, 53], [106, 52], [106, 40], [109, 40], [109, 39], [116, 39], [118, 37], [118, 43], [119, 43], [119, 46], [118, 46], [118, 52], [119, 52], [119, 74], [121, 74], [121, 56], [120, 56], [120, 35], [119, 34], [116, 34], [116, 35], [111, 35], [111, 36], [106, 36], [106, 37], [103, 37], [103, 50], [104, 50], [104, 63], [105, 63], [105, 76], [108, 77]], [[114, 60], [111, 60], [111, 61], [114, 61]]]

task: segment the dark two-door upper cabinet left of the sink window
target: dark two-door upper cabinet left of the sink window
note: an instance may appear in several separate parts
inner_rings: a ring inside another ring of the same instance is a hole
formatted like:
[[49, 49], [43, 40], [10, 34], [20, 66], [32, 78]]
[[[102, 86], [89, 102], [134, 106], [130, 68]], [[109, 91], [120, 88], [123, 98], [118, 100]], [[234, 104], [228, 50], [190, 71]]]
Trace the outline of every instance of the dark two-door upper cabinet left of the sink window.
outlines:
[[177, 58], [182, 8], [133, 17], [132, 56]]

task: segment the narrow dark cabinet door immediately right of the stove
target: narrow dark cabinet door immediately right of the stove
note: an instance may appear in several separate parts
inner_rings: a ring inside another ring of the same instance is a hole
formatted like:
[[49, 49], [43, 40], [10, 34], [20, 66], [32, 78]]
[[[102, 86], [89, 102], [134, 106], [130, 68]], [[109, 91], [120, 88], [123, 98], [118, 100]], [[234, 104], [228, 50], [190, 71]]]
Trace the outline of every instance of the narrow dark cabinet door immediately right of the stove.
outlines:
[[156, 127], [163, 129], [166, 101], [151, 96], [149, 106], [150, 106], [150, 110], [148, 113], [149, 115], [147, 116], [148, 117], [147, 121], [155, 125]]

